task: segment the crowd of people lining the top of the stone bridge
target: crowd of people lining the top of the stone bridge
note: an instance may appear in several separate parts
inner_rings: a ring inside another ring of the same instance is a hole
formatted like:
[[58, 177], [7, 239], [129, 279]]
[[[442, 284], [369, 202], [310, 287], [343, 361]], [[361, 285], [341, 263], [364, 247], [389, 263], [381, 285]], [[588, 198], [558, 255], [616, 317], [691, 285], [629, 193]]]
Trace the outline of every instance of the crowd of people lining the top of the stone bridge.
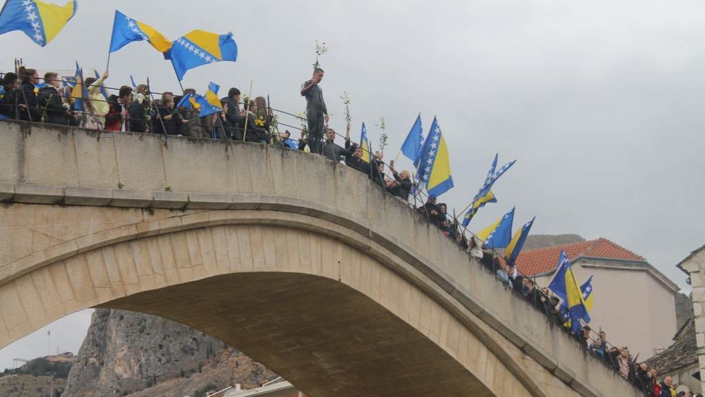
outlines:
[[[366, 153], [360, 144], [351, 141], [349, 122], [345, 126], [343, 146], [336, 143], [338, 134], [327, 126], [329, 114], [319, 86], [323, 76], [324, 71], [315, 69], [312, 79], [302, 84], [300, 94], [307, 100], [307, 127], [301, 129], [298, 140], [291, 138], [289, 131], [278, 132], [274, 112], [264, 97], [250, 100], [243, 98], [238, 88], [230, 88], [228, 96], [220, 100], [221, 112], [199, 117], [197, 107], [180, 104], [183, 96], [195, 94], [195, 90], [184, 90], [182, 95], [165, 92], [155, 99], [149, 87], [140, 84], [136, 88], [123, 85], [117, 95], [106, 95], [107, 71], [99, 78], [85, 79], [87, 95], [81, 98], [73, 97], [73, 88], [54, 72], [45, 73], [44, 78], [39, 78], [35, 69], [25, 67], [21, 67], [18, 73], [4, 73], [0, 116], [86, 129], [247, 141], [307, 150], [333, 162], [344, 162], [404, 201], [408, 202], [410, 197], [415, 201], [424, 197], [421, 189], [416, 189], [412, 183], [410, 172], [397, 172], [393, 162], [390, 165], [384, 162], [382, 153]], [[41, 88], [37, 88], [38, 85]], [[82, 102], [81, 111], [77, 109], [77, 99]], [[386, 173], [386, 167], [389, 173]], [[539, 288], [532, 278], [521, 275], [514, 263], [507, 263], [496, 251], [487, 249], [478, 237], [467, 237], [467, 231], [460, 227], [458, 220], [448, 215], [446, 204], [436, 203], [435, 197], [425, 198], [422, 206], [413, 206], [429, 223], [477, 258], [517, 295], [545, 314], [551, 323], [570, 333], [584, 349], [635, 384], [646, 396], [676, 396], [673, 379], [665, 377], [658, 381], [655, 368], [649, 368], [646, 363], [637, 364], [626, 347], [608, 345], [605, 332], [595, 333], [587, 325], [576, 327], [571, 324], [567, 309], [548, 288]], [[678, 396], [692, 397], [692, 394]]]

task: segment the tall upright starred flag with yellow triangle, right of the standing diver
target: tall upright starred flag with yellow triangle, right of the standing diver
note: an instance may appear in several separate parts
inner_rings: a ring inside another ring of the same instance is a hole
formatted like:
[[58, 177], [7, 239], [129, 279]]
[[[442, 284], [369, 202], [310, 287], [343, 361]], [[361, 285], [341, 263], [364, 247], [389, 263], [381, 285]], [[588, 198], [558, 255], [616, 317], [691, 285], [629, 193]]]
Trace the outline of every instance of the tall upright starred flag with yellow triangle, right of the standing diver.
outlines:
[[418, 174], [419, 183], [426, 186], [426, 191], [431, 197], [441, 196], [454, 186], [453, 177], [450, 175], [448, 146], [436, 117], [421, 150]]

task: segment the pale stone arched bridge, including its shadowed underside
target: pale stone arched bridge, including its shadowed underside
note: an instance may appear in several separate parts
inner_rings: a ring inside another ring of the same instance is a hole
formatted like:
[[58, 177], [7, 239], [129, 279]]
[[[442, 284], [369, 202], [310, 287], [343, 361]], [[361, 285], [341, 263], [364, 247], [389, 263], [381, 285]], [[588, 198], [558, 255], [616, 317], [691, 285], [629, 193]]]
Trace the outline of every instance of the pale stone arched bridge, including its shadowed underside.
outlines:
[[639, 396], [360, 172], [251, 143], [0, 124], [0, 348], [90, 307], [309, 396]]

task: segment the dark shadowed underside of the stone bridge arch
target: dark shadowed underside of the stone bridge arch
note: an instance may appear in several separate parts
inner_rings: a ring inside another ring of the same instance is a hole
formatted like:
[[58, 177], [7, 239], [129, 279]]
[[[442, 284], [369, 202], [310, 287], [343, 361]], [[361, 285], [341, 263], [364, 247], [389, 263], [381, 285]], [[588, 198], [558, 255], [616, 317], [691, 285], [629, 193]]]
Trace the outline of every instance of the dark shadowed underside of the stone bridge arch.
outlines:
[[102, 307], [156, 314], [207, 332], [309, 396], [494, 396], [429, 338], [329, 278], [240, 273]]

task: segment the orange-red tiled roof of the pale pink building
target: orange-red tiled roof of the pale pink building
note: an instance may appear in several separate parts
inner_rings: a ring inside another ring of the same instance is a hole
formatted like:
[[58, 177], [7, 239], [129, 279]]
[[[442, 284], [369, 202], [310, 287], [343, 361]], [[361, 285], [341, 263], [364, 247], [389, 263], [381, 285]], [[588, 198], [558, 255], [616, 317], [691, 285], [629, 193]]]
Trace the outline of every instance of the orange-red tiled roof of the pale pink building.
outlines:
[[599, 238], [586, 242], [575, 242], [557, 247], [527, 249], [517, 257], [517, 268], [525, 275], [537, 275], [552, 271], [558, 265], [560, 251], [568, 254], [568, 259], [580, 256], [604, 259], [625, 259], [627, 261], [646, 261], [643, 256], [615, 244], [608, 239]]

